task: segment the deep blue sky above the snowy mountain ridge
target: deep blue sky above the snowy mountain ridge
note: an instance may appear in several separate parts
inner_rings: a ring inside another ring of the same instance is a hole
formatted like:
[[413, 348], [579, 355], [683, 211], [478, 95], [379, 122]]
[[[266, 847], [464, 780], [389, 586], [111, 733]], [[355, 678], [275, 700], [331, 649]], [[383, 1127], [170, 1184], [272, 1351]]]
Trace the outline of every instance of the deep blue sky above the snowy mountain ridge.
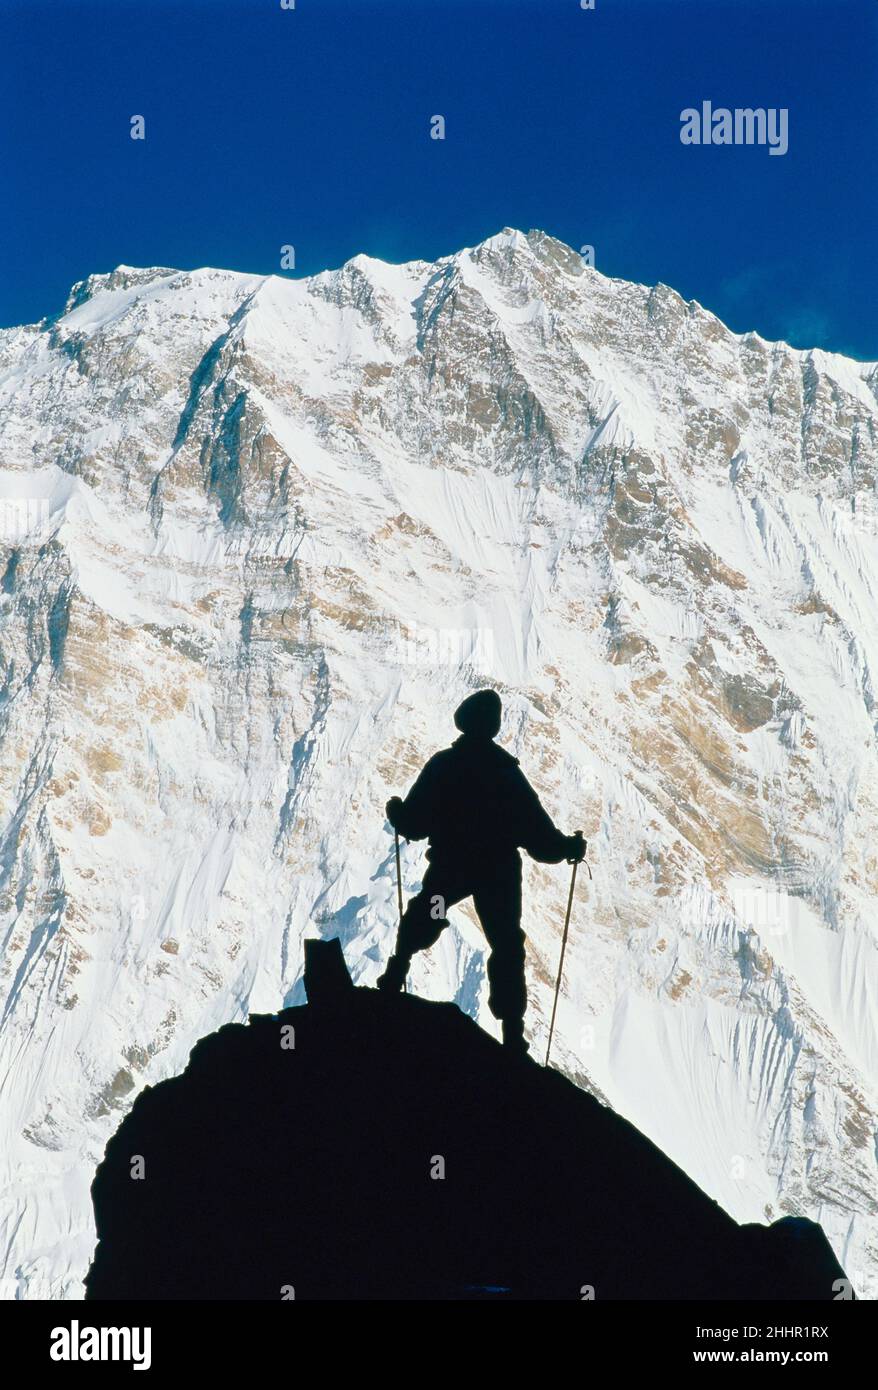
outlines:
[[[119, 263], [292, 243], [310, 274], [513, 225], [878, 359], [877, 93], [878, 0], [0, 0], [0, 324]], [[681, 145], [702, 100], [788, 107], [789, 153]]]

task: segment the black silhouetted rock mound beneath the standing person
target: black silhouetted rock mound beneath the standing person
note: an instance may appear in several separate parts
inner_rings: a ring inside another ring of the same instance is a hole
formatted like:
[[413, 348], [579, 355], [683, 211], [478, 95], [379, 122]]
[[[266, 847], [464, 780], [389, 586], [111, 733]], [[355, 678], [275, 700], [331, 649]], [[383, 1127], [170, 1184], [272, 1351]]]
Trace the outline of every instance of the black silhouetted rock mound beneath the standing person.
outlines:
[[107, 1145], [89, 1298], [838, 1295], [814, 1223], [738, 1226], [557, 1072], [308, 945], [307, 1005], [199, 1042]]

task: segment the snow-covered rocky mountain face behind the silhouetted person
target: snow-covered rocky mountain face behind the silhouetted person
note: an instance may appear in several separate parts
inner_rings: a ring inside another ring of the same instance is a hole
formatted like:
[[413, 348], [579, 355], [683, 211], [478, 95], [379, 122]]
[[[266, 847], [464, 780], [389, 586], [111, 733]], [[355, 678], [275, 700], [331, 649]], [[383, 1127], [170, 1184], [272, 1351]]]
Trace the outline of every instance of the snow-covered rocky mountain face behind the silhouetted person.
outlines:
[[[4, 1294], [79, 1295], [122, 1113], [299, 1002], [304, 935], [375, 980], [383, 803], [492, 684], [590, 841], [554, 1065], [874, 1297], [877, 599], [878, 364], [542, 232], [119, 267], [1, 332]], [[538, 1058], [567, 873], [527, 867]], [[413, 987], [493, 1031], [452, 916]]]

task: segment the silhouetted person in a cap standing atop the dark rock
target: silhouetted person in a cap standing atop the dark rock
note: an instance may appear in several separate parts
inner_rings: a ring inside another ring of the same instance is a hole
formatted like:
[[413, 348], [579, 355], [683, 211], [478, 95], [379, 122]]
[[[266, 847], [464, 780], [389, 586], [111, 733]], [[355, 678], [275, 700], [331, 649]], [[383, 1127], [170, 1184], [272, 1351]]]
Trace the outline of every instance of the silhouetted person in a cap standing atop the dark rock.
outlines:
[[585, 841], [579, 831], [563, 835], [553, 826], [518, 759], [493, 742], [500, 713], [496, 691], [470, 695], [454, 712], [461, 737], [429, 759], [404, 801], [388, 802], [388, 820], [400, 835], [429, 838], [429, 865], [378, 988], [401, 990], [414, 952], [432, 947], [449, 926], [447, 909], [471, 897], [490, 947], [490, 1012], [503, 1023], [504, 1044], [527, 1052], [518, 848], [553, 865], [583, 859]]

